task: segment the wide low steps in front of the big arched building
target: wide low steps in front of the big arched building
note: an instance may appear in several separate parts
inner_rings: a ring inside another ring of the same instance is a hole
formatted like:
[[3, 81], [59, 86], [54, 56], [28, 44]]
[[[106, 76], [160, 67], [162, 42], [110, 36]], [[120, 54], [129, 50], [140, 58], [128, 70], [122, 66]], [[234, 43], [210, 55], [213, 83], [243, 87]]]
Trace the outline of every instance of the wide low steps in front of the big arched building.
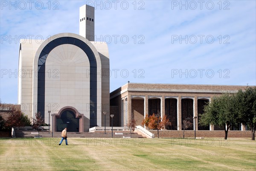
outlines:
[[[17, 138], [33, 138], [34, 136], [38, 136], [37, 131], [15, 131], [15, 135]], [[48, 131], [40, 131], [39, 135], [44, 138], [52, 137], [52, 132]], [[123, 138], [123, 137], [130, 137], [130, 132], [126, 130], [115, 130], [113, 131], [113, 138]], [[60, 138], [61, 132], [53, 132], [53, 137]], [[106, 130], [106, 134], [104, 131], [95, 131], [95, 132], [67, 132], [67, 137], [77, 137], [77, 138], [111, 138], [111, 131]], [[132, 138], [145, 138], [138, 133], [131, 133]]]

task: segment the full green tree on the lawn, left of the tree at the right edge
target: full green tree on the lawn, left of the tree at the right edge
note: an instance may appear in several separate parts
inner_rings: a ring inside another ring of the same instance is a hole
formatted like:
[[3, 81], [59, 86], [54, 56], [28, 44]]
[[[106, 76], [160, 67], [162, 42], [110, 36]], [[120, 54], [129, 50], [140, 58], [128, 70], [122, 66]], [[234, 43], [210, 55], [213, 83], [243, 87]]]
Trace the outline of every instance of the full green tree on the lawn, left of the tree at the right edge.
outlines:
[[224, 126], [225, 139], [227, 139], [228, 130], [238, 122], [235, 95], [225, 93], [219, 97], [213, 97], [211, 103], [204, 107], [204, 113], [200, 116], [200, 125]]

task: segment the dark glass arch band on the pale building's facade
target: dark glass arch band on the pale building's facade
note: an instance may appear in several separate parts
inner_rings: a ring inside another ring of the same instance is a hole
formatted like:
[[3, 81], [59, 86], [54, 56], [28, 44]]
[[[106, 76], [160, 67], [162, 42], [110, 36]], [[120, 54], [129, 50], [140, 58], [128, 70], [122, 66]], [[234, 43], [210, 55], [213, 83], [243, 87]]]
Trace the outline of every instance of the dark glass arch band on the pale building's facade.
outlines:
[[57, 46], [73, 44], [84, 51], [90, 62], [90, 128], [97, 126], [97, 62], [90, 47], [83, 41], [72, 37], [61, 37], [50, 41], [41, 51], [38, 59], [38, 112], [45, 115], [45, 62], [47, 56]]

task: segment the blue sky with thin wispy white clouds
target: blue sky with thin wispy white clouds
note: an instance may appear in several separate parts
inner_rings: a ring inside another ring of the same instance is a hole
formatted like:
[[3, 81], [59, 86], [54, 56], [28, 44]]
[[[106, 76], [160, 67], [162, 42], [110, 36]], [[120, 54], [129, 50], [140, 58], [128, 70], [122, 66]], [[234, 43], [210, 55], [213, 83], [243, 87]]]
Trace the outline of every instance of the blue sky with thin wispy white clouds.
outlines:
[[110, 91], [131, 83], [256, 85], [255, 0], [0, 1], [0, 100], [17, 103], [20, 39], [79, 34], [95, 7]]

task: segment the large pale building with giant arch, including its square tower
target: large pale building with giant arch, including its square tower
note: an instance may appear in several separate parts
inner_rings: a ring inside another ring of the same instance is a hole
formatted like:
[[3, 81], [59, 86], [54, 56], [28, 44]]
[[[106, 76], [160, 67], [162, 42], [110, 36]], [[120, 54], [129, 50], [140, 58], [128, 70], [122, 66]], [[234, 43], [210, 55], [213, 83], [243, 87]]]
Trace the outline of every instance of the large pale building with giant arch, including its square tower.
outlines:
[[19, 70], [29, 74], [19, 77], [18, 103], [29, 117], [40, 112], [46, 123], [53, 119], [54, 131], [103, 126], [103, 111], [109, 125], [108, 46], [94, 41], [94, 7], [81, 6], [79, 17], [79, 35], [20, 41]]

